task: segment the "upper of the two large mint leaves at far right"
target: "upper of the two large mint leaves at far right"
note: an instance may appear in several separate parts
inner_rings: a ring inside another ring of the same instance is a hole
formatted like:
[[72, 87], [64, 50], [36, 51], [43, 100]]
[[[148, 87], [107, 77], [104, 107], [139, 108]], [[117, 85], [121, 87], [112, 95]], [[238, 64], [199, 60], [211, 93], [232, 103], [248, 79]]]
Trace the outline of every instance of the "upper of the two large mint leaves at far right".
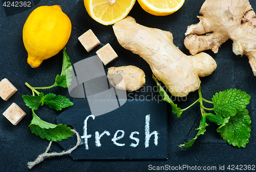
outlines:
[[234, 116], [238, 111], [245, 109], [249, 100], [249, 94], [237, 89], [216, 93], [212, 98], [215, 113], [224, 118]]

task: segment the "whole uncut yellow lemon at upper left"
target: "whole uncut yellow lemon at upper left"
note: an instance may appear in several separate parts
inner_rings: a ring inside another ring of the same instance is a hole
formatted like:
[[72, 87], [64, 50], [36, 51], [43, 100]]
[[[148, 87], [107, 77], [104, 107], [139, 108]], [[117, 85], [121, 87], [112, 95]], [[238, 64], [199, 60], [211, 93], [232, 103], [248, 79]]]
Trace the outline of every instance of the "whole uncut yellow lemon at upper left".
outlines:
[[40, 6], [31, 12], [23, 27], [23, 42], [28, 63], [37, 68], [42, 61], [56, 55], [71, 34], [69, 17], [60, 6]]

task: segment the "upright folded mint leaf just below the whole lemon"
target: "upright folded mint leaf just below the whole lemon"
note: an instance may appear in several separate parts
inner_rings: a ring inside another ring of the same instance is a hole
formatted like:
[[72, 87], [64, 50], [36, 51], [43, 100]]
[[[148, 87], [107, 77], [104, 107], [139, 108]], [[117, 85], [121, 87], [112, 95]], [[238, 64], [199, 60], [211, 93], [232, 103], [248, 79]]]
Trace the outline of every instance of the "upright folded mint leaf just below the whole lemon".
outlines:
[[72, 81], [71, 70], [72, 70], [72, 66], [71, 66], [70, 58], [66, 53], [66, 47], [64, 47], [61, 74], [56, 76], [54, 84], [63, 88], [68, 88], [69, 85], [71, 85], [71, 81]]

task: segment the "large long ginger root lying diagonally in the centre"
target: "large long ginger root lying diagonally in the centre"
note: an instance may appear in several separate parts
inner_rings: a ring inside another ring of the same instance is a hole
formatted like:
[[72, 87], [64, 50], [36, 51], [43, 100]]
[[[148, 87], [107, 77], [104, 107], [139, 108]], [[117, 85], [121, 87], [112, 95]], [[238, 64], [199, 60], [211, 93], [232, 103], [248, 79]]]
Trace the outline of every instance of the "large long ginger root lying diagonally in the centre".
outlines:
[[113, 29], [119, 44], [140, 55], [174, 96], [196, 91], [199, 77], [210, 75], [217, 67], [208, 54], [187, 56], [173, 44], [172, 33], [139, 25], [130, 16], [114, 24]]

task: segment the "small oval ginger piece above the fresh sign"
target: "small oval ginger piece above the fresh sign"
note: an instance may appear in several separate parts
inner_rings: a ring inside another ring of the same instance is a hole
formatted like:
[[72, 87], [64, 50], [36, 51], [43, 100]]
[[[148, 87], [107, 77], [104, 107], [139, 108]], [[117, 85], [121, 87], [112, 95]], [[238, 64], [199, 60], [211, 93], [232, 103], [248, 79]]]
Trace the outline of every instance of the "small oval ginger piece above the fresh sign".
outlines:
[[136, 66], [111, 67], [108, 79], [117, 89], [135, 91], [145, 84], [145, 73]]

